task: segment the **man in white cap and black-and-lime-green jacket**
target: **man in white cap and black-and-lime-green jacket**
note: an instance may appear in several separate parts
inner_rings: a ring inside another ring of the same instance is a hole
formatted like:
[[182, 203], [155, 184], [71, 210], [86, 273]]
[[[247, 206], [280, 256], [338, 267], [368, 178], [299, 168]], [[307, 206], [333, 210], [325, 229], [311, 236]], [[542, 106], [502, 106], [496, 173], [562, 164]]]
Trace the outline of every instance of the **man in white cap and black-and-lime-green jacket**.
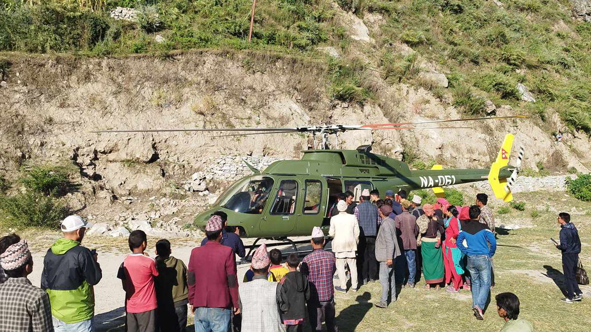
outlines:
[[41, 288], [49, 295], [56, 332], [93, 332], [93, 286], [102, 271], [96, 253], [80, 245], [87, 226], [79, 216], [64, 219], [64, 237], [51, 245], [43, 261]]

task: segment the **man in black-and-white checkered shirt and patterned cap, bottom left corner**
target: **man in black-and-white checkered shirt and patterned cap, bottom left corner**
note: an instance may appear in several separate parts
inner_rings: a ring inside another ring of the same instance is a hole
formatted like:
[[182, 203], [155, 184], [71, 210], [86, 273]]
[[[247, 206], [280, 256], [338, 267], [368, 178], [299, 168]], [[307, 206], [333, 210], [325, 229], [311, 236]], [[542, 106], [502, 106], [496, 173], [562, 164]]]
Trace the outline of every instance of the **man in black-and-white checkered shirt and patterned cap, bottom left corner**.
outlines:
[[0, 285], [0, 331], [53, 332], [49, 295], [27, 279], [33, 272], [27, 241], [2, 237], [0, 265], [8, 277]]

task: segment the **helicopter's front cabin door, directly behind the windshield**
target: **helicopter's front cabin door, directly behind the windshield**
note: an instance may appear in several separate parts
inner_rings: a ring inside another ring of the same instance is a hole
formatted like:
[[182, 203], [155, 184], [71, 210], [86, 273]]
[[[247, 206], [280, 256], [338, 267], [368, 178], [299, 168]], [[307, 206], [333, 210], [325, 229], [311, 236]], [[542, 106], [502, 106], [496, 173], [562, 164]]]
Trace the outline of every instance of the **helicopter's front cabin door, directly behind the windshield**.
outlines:
[[301, 209], [300, 188], [301, 183], [296, 178], [278, 179], [277, 188], [271, 193], [269, 210], [261, 220], [261, 233], [285, 236], [296, 227]]

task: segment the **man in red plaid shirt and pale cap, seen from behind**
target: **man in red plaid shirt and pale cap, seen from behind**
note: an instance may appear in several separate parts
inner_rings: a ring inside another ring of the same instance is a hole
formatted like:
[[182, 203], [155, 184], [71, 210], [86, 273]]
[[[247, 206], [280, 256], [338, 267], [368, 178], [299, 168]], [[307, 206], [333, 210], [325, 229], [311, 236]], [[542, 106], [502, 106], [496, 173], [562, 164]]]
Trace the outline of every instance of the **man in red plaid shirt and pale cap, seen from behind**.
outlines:
[[335, 332], [335, 288], [333, 276], [336, 272], [336, 258], [324, 250], [324, 233], [320, 227], [312, 230], [313, 251], [301, 263], [300, 271], [308, 277], [312, 297], [308, 303], [308, 314], [312, 331], [322, 331], [322, 315], [327, 332]]

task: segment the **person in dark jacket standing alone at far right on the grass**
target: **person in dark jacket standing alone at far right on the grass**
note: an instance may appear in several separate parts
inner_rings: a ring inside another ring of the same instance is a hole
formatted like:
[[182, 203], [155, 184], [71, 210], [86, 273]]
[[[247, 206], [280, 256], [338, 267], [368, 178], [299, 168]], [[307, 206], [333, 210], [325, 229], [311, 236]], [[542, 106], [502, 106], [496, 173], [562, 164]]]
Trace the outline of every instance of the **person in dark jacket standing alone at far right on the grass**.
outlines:
[[583, 292], [575, 278], [581, 240], [576, 227], [570, 222], [570, 214], [566, 212], [558, 214], [558, 223], [560, 224], [560, 245], [556, 245], [556, 248], [562, 252], [562, 270], [567, 291], [567, 297], [561, 298], [560, 301], [571, 304], [573, 301], [583, 300]]

